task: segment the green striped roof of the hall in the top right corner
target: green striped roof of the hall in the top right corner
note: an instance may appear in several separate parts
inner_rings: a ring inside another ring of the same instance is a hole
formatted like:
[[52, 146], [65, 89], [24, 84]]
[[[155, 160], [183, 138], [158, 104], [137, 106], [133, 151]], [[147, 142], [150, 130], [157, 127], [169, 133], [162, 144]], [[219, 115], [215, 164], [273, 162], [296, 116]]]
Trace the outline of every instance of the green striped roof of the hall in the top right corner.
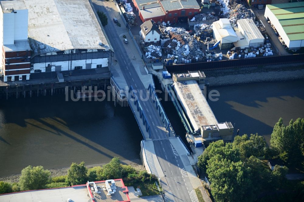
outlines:
[[266, 6], [279, 20], [289, 40], [304, 39], [304, 2]]

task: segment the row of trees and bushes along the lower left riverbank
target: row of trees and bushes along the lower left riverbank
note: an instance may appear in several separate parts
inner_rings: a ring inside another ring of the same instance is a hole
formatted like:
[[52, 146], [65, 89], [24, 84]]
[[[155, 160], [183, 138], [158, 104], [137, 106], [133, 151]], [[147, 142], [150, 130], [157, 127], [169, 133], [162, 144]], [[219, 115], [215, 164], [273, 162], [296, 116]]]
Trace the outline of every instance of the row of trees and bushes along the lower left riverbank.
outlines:
[[50, 177], [49, 170], [42, 166], [28, 166], [21, 171], [19, 183], [8, 183], [0, 181], [0, 194], [37, 190], [45, 188], [67, 187], [78, 184], [85, 184], [87, 181], [101, 181], [123, 178], [125, 185], [132, 186], [134, 182], [155, 181], [156, 177], [147, 171], [138, 171], [130, 165], [121, 164], [118, 157], [114, 157], [104, 166], [87, 168], [85, 162], [72, 163], [67, 175]]

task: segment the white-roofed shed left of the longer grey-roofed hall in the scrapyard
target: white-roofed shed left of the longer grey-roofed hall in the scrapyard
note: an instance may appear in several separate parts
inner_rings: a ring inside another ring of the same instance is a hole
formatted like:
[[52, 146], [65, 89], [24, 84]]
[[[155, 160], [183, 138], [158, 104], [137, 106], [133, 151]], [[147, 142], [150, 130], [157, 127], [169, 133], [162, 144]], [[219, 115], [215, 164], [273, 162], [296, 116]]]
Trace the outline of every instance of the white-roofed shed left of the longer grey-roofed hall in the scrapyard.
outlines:
[[230, 49], [233, 42], [237, 42], [237, 34], [226, 18], [213, 22], [213, 38], [220, 41], [219, 49]]

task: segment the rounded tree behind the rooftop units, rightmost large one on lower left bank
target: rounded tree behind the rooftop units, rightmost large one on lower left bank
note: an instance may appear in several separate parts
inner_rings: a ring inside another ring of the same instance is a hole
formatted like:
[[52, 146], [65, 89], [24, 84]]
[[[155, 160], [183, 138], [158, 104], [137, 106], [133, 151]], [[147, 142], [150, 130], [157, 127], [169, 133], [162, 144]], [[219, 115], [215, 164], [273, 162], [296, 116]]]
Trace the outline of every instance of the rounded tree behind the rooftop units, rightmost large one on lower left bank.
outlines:
[[117, 179], [122, 176], [122, 166], [120, 164], [119, 157], [114, 157], [112, 160], [105, 164], [103, 167], [103, 175], [107, 179]]

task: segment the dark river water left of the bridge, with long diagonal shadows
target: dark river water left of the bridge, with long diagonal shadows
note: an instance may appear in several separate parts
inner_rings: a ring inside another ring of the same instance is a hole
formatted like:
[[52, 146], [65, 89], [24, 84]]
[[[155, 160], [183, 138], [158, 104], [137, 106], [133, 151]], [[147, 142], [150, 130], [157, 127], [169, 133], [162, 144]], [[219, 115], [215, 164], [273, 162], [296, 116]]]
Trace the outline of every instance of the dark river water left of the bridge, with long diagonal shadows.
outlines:
[[130, 107], [65, 101], [64, 95], [1, 100], [0, 176], [28, 165], [139, 159], [142, 135]]

